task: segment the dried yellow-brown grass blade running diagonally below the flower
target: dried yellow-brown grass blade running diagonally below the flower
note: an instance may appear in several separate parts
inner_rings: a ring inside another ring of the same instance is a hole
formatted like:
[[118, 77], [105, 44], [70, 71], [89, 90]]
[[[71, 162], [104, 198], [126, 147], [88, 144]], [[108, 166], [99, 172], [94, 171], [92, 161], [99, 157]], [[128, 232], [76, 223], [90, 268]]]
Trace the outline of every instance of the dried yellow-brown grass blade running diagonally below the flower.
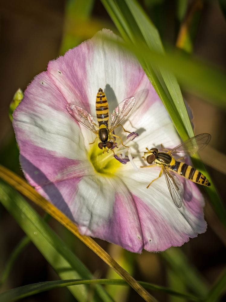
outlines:
[[33, 187], [25, 180], [16, 175], [14, 172], [0, 165], [0, 177], [17, 189], [24, 196], [28, 197], [45, 212], [49, 213], [53, 218], [59, 221], [63, 226], [76, 235], [85, 245], [87, 245], [96, 255], [98, 255], [110, 268], [123, 278], [145, 301], [156, 302], [157, 300], [151, 296], [127, 271], [124, 270], [104, 249], [102, 249], [93, 239], [83, 236], [79, 233], [77, 226], [65, 216], [53, 204], [42, 197]]

